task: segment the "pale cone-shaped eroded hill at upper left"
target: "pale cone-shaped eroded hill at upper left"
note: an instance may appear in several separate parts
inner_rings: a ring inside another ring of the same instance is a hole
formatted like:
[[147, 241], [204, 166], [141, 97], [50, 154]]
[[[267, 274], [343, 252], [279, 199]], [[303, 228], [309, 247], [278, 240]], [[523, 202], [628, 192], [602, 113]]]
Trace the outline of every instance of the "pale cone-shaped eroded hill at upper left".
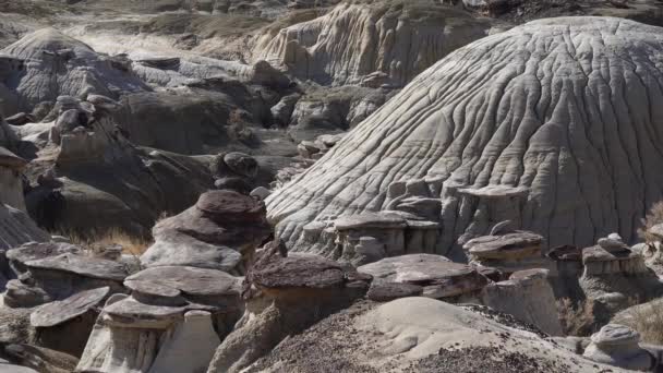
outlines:
[[149, 89], [111, 58], [53, 28], [28, 34], [2, 52], [24, 61], [21, 73], [13, 75], [13, 84], [9, 86], [17, 95], [17, 110], [55, 101], [62, 95], [85, 98], [88, 94], [100, 94], [117, 98], [121, 93]]

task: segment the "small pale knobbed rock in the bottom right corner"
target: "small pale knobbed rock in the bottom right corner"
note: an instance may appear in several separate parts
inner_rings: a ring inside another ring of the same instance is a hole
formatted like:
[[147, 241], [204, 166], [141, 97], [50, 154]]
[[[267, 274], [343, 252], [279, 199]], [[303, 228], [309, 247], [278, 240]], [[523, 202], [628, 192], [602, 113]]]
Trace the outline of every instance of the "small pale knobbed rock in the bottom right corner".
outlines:
[[640, 348], [640, 334], [628, 326], [607, 324], [592, 335], [583, 356], [593, 361], [634, 371], [650, 371], [655, 359]]

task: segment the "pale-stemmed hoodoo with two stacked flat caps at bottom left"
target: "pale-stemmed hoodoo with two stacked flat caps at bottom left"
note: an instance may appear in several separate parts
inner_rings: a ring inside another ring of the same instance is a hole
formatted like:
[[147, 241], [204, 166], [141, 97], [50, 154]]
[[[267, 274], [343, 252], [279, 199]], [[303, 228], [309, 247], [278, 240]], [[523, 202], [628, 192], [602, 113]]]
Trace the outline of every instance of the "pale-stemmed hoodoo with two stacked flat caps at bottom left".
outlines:
[[239, 317], [240, 281], [184, 266], [142, 270], [111, 297], [75, 372], [203, 372]]

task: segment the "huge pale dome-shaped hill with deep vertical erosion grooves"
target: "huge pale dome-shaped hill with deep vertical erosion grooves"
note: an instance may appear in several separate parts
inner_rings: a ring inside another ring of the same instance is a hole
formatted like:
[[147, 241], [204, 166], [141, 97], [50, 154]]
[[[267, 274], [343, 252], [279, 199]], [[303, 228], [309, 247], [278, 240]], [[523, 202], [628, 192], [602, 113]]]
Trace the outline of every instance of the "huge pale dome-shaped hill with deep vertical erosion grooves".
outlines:
[[[662, 197], [663, 28], [541, 20], [421, 73], [267, 200], [291, 250], [334, 256], [304, 226], [384, 209], [442, 224], [437, 254], [509, 219], [546, 246], [635, 239]], [[436, 207], [439, 206], [439, 207]], [[322, 234], [325, 236], [325, 234]]]

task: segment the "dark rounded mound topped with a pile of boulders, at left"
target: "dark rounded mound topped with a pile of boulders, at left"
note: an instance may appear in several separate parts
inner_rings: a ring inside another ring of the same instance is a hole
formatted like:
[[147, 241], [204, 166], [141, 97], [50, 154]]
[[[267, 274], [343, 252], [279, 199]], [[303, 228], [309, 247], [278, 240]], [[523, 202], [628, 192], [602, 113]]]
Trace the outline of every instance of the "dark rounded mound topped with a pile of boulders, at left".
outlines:
[[108, 230], [148, 236], [164, 212], [183, 210], [213, 186], [207, 163], [134, 146], [110, 118], [118, 106], [99, 95], [60, 96], [47, 117], [52, 122], [22, 135], [40, 147], [26, 196], [40, 226], [83, 237]]

